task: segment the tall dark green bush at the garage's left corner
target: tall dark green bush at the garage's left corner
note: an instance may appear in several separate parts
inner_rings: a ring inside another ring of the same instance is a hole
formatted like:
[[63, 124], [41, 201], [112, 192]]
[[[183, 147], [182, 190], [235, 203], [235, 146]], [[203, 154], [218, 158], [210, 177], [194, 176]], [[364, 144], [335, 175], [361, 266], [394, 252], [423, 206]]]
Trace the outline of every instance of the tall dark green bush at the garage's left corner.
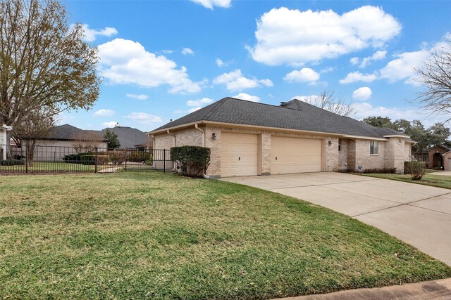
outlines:
[[171, 159], [185, 176], [202, 176], [210, 164], [210, 148], [182, 146], [171, 148]]

